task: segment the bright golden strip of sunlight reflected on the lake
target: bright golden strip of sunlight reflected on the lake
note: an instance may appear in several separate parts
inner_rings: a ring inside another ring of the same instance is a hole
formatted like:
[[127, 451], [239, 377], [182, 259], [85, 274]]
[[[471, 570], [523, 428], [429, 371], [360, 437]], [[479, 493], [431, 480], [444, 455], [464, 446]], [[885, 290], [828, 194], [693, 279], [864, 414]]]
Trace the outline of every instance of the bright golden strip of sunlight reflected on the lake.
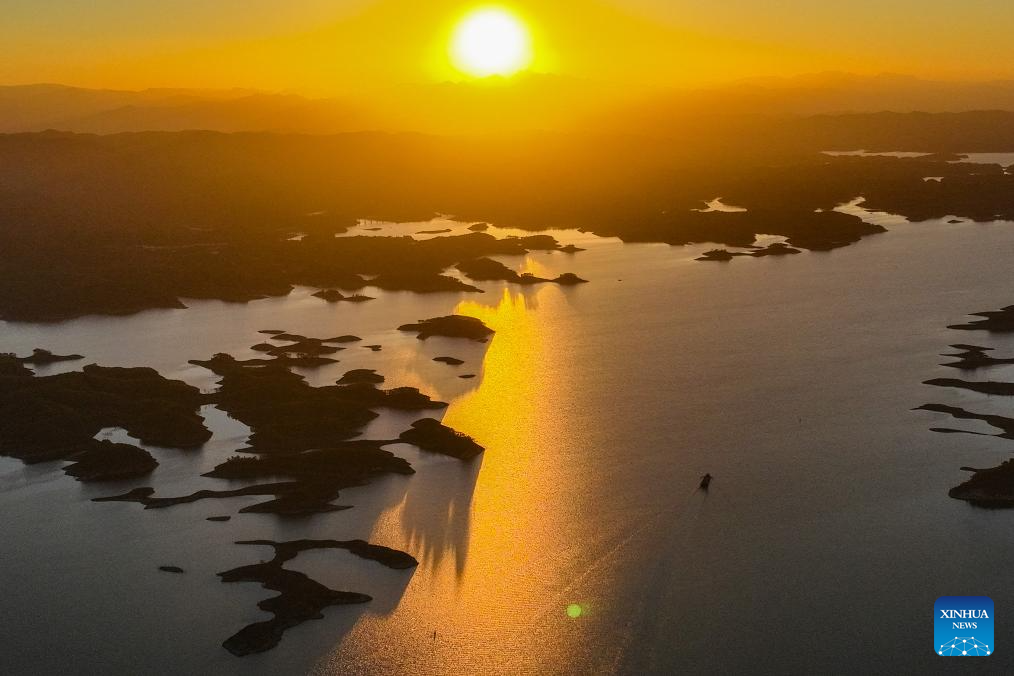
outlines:
[[[470, 465], [441, 462], [439, 485], [414, 478], [381, 515], [370, 540], [403, 542], [420, 567], [397, 607], [361, 617], [319, 673], [408, 665], [416, 673], [517, 673], [545, 667], [547, 656], [561, 670], [573, 666], [566, 644], [589, 606], [573, 598], [583, 566], [575, 529], [588, 527], [580, 519], [587, 505], [572, 497], [567, 444], [575, 435], [555, 406], [571, 399], [561, 359], [572, 337], [562, 319], [569, 302], [565, 290], [545, 285], [454, 308], [496, 333], [479, 387], [452, 401], [443, 422], [487, 450]], [[475, 664], [463, 664], [465, 655]]]

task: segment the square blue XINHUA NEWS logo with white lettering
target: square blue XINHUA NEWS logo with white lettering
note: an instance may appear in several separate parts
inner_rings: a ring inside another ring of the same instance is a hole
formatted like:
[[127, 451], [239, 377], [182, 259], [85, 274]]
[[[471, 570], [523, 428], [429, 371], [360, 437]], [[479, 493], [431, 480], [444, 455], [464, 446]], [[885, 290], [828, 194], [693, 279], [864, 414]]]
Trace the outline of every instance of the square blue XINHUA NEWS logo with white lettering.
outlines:
[[993, 599], [941, 596], [933, 604], [933, 652], [943, 657], [993, 655]]

